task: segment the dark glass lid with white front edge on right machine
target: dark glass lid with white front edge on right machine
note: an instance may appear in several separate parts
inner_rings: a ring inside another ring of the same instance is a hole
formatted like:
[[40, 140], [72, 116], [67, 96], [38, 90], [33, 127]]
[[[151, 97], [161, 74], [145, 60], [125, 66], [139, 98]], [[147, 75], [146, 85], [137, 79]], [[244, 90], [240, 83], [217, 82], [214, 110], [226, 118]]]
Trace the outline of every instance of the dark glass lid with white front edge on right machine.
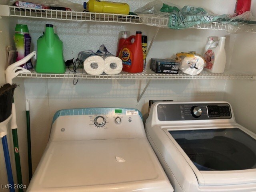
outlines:
[[178, 129], [168, 133], [200, 185], [255, 183], [255, 135], [237, 127], [240, 128]]

